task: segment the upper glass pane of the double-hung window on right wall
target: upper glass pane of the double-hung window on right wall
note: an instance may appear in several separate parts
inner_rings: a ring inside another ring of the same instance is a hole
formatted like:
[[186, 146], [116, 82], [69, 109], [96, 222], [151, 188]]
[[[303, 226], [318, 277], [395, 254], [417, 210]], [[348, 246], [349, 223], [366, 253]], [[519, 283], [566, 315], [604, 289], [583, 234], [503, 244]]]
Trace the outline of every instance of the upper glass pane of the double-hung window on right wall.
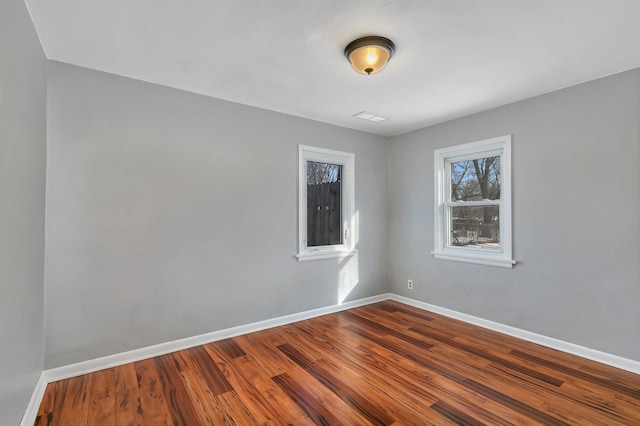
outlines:
[[500, 156], [451, 163], [451, 201], [500, 199]]

